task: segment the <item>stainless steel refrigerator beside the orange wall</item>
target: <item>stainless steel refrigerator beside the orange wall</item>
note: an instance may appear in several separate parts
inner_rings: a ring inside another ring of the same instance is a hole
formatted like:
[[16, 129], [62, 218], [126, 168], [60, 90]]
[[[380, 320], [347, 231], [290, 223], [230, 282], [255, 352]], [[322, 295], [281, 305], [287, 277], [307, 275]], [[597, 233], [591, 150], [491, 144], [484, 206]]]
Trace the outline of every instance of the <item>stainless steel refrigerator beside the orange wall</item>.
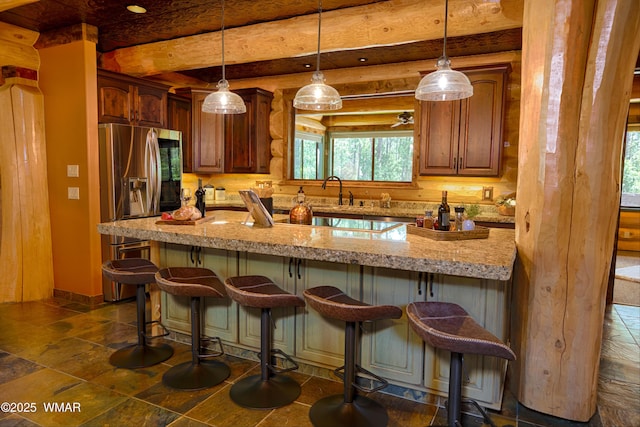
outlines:
[[[182, 133], [122, 124], [98, 126], [102, 222], [158, 216], [180, 207]], [[102, 236], [102, 260], [149, 258], [148, 241]], [[135, 297], [135, 287], [103, 277], [105, 301]]]

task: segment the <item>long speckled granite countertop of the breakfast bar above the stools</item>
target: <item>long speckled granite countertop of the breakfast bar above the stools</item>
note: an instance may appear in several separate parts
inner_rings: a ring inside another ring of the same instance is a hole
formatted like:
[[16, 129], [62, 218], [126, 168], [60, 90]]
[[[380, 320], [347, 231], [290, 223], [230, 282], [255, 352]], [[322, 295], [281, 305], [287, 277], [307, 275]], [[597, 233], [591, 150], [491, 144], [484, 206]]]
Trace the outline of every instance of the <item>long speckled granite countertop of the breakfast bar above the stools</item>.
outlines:
[[[246, 212], [209, 211], [198, 225], [156, 224], [159, 217], [98, 225], [101, 234], [189, 246], [399, 270], [509, 280], [516, 257], [515, 231], [490, 229], [487, 239], [435, 241], [400, 225], [383, 233], [276, 223], [244, 224]], [[276, 220], [287, 215], [274, 215]]]

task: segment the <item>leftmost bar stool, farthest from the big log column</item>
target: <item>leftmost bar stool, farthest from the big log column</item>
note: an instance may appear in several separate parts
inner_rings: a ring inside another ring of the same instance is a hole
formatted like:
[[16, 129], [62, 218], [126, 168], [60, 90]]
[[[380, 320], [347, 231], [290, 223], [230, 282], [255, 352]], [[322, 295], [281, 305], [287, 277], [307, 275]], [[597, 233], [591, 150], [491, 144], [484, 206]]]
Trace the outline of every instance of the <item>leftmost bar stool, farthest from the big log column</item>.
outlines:
[[112, 259], [102, 264], [102, 272], [110, 280], [136, 286], [138, 343], [113, 353], [109, 358], [109, 363], [113, 366], [127, 369], [144, 368], [164, 362], [173, 355], [173, 348], [168, 344], [147, 343], [147, 340], [159, 338], [147, 337], [145, 332], [147, 325], [145, 286], [147, 283], [155, 282], [156, 271], [158, 267], [144, 258]]

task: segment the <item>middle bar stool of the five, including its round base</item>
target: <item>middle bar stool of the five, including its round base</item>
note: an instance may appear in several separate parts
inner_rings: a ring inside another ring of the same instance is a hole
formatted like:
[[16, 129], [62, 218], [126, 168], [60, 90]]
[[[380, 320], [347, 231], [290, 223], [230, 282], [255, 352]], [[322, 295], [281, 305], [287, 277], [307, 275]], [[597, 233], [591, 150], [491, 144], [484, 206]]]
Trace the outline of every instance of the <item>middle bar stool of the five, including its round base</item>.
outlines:
[[[253, 375], [235, 383], [230, 397], [235, 403], [251, 409], [279, 408], [296, 400], [300, 384], [287, 375], [298, 365], [282, 350], [272, 348], [271, 309], [274, 307], [304, 307], [304, 300], [280, 289], [264, 276], [229, 277], [224, 282], [231, 299], [245, 307], [261, 309], [260, 316], [260, 375]], [[280, 355], [289, 368], [273, 365], [274, 354]]]

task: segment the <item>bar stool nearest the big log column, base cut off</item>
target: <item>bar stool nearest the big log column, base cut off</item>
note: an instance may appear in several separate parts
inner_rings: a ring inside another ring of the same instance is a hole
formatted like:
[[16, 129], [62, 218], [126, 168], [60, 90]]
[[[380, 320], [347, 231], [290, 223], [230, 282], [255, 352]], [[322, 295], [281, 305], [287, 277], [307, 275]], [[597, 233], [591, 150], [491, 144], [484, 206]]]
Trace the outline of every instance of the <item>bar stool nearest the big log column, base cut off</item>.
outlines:
[[[515, 360], [516, 355], [506, 344], [476, 323], [458, 304], [412, 302], [407, 305], [407, 317], [413, 330], [425, 342], [451, 352], [447, 426], [461, 426], [463, 354], [495, 356], [506, 360]], [[468, 402], [478, 408], [485, 423], [495, 427], [478, 402]]]

